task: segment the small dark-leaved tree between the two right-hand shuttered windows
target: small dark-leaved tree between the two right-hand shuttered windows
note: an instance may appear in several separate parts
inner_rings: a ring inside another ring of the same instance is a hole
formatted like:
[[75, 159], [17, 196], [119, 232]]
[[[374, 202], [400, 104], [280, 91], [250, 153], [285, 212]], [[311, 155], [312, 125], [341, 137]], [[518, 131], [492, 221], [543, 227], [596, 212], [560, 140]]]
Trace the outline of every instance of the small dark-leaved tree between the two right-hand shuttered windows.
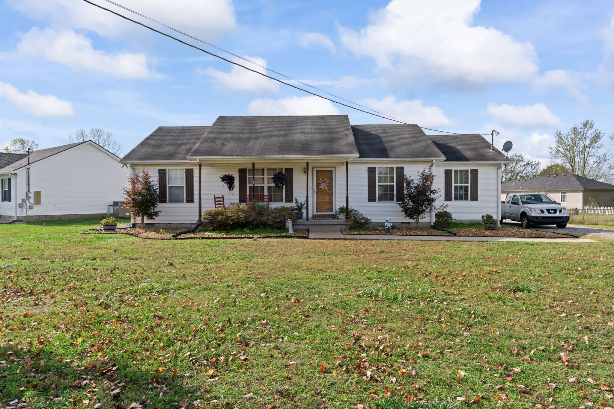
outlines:
[[398, 205], [406, 218], [416, 221], [416, 227], [422, 216], [448, 207], [447, 204], [435, 205], [441, 196], [435, 196], [440, 189], [433, 189], [435, 175], [430, 168], [422, 169], [418, 174], [418, 180], [413, 180], [408, 175], [403, 175], [403, 178], [405, 180], [403, 198]]

